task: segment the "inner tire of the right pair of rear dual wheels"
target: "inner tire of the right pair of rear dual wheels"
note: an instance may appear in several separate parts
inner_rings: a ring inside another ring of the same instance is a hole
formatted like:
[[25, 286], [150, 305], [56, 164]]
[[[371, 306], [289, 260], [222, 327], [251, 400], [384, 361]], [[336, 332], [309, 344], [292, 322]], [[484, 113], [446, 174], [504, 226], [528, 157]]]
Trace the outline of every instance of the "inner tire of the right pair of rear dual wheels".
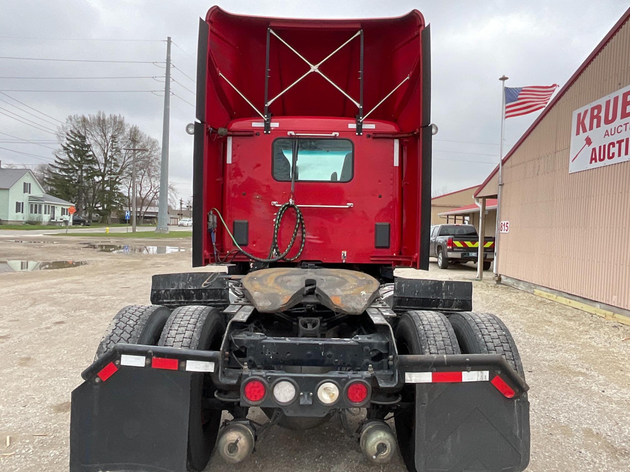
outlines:
[[[455, 332], [449, 320], [438, 312], [406, 312], [394, 332], [398, 354], [461, 354]], [[394, 416], [398, 447], [407, 469], [416, 470], [415, 463], [415, 385], [406, 384], [402, 402], [409, 405]]]

